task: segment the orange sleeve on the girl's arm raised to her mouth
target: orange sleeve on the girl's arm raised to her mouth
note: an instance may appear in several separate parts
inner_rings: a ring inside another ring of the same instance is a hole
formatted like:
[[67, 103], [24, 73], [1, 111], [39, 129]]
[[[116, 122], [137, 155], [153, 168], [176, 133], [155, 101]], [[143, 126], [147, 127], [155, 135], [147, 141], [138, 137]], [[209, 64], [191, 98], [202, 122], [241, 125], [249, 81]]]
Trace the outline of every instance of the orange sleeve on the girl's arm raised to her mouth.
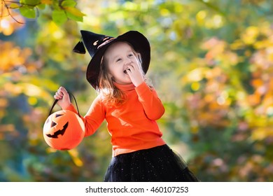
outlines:
[[158, 94], [155, 90], [151, 90], [145, 82], [136, 87], [136, 92], [147, 118], [150, 120], [158, 120], [165, 113], [164, 106], [158, 98]]

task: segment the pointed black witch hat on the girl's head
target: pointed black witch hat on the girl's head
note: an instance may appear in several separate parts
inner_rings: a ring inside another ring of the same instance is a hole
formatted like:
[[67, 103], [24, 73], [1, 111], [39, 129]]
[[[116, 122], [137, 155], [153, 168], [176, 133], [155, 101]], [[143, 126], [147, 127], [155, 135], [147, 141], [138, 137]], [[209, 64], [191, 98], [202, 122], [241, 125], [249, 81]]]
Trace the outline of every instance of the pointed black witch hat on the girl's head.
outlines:
[[148, 39], [143, 34], [139, 33], [139, 31], [127, 31], [125, 34], [116, 38], [102, 34], [94, 34], [93, 32], [84, 30], [81, 30], [80, 33], [82, 35], [82, 40], [80, 40], [75, 48], [73, 48], [73, 52], [85, 54], [86, 48], [92, 57], [87, 66], [86, 79], [94, 89], [99, 87], [99, 67], [104, 52], [111, 44], [118, 41], [130, 43], [134, 50], [141, 54], [142, 69], [144, 73], [147, 73], [151, 60], [151, 48]]

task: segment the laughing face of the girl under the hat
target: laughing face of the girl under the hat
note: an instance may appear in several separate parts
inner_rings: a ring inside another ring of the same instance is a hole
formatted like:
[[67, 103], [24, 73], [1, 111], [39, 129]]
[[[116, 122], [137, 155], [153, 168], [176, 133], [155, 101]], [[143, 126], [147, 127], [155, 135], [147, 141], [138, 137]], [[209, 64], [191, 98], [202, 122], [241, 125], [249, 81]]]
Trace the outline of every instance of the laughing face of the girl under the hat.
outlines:
[[128, 64], [133, 66], [140, 66], [140, 64], [129, 44], [125, 42], [113, 43], [106, 50], [104, 57], [106, 58], [106, 66], [116, 83], [124, 85], [132, 83], [125, 70]]

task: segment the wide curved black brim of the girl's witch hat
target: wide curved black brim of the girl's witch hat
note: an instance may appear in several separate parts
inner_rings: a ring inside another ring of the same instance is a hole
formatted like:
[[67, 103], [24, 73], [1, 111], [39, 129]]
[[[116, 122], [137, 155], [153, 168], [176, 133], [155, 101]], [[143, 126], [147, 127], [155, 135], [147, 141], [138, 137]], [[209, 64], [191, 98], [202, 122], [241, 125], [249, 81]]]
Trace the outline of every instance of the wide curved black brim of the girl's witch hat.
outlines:
[[94, 87], [94, 89], [99, 87], [99, 71], [104, 52], [107, 50], [107, 48], [109, 48], [110, 45], [118, 41], [125, 41], [130, 43], [134, 50], [141, 54], [142, 69], [144, 73], [147, 73], [151, 60], [150, 43], [143, 34], [139, 33], [139, 31], [128, 31], [125, 34], [113, 38], [111, 41], [109, 41], [109, 43], [102, 45], [102, 47], [97, 50], [97, 52], [90, 60], [90, 63], [87, 66], [86, 79], [92, 85], [92, 87]]

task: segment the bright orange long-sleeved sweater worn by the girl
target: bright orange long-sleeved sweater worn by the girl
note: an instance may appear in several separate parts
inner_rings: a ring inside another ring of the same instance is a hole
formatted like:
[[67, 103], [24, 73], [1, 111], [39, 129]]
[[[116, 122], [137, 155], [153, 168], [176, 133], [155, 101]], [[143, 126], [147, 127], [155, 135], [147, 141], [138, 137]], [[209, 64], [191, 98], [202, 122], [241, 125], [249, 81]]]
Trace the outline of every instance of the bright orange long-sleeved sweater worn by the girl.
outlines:
[[[118, 107], [106, 106], [100, 96], [94, 99], [89, 111], [82, 117], [85, 137], [94, 134], [106, 119], [113, 156], [164, 145], [162, 132], [155, 120], [163, 115], [165, 109], [155, 90], [146, 83], [138, 87], [133, 84], [115, 85], [125, 92], [128, 99]], [[76, 112], [72, 104], [67, 109]]]

